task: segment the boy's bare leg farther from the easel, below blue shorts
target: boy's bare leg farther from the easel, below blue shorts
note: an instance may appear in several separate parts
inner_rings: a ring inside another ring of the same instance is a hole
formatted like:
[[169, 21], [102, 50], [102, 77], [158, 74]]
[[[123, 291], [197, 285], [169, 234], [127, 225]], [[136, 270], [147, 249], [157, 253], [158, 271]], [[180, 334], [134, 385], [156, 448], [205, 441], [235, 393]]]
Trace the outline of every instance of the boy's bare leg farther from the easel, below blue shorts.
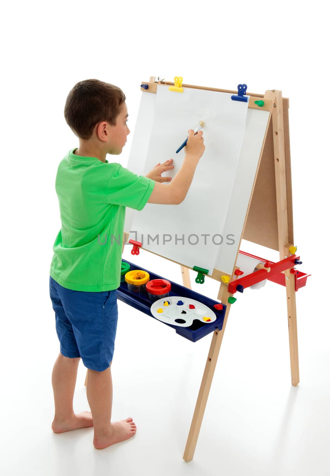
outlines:
[[54, 392], [55, 416], [51, 428], [55, 433], [93, 426], [90, 412], [75, 414], [73, 394], [76, 386], [80, 357], [69, 358], [62, 354], [56, 359], [51, 383]]

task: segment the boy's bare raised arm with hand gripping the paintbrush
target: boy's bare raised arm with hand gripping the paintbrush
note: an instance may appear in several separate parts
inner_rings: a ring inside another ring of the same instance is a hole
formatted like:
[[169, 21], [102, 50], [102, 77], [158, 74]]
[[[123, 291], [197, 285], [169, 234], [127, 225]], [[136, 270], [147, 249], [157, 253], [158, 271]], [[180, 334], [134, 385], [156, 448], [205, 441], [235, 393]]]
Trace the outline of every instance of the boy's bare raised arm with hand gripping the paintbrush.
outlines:
[[195, 136], [194, 130], [189, 129], [186, 145], [187, 153], [179, 172], [168, 185], [155, 182], [148, 203], [179, 205], [179, 203], [183, 202], [194, 177], [197, 164], [205, 150], [202, 135], [203, 132], [201, 130]]

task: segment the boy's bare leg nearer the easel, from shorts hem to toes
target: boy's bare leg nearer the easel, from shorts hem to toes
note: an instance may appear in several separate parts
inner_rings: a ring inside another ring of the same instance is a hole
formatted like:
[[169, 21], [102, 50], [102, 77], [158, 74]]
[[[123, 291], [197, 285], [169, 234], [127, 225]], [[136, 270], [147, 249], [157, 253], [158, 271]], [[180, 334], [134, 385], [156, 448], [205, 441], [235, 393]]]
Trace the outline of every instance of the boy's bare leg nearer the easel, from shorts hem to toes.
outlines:
[[111, 423], [112, 377], [110, 367], [102, 372], [88, 369], [87, 399], [93, 416], [93, 445], [95, 448], [106, 448], [135, 435], [136, 425], [132, 418]]

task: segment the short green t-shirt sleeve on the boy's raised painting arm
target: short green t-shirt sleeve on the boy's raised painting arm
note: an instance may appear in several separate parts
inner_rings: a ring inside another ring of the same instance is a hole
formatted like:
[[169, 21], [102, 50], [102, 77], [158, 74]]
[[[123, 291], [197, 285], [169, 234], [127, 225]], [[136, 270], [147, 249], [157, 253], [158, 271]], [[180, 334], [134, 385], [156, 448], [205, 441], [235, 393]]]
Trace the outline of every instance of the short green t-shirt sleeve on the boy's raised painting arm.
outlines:
[[136, 175], [120, 164], [108, 180], [106, 201], [114, 205], [142, 210], [155, 186], [155, 181], [143, 175]]

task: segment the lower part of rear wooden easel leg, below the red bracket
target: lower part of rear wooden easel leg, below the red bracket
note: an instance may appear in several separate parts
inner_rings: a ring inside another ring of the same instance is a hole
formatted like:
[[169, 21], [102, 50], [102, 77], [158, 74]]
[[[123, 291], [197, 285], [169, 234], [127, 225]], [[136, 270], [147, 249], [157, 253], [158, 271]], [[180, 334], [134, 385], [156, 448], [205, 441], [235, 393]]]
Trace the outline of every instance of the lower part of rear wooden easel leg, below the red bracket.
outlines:
[[[290, 248], [289, 244], [289, 248]], [[285, 256], [290, 256], [289, 248], [284, 248]], [[290, 346], [291, 384], [296, 387], [299, 384], [299, 361], [298, 361], [298, 333], [295, 278], [290, 269], [285, 271], [285, 284], [287, 290], [288, 326]]]

